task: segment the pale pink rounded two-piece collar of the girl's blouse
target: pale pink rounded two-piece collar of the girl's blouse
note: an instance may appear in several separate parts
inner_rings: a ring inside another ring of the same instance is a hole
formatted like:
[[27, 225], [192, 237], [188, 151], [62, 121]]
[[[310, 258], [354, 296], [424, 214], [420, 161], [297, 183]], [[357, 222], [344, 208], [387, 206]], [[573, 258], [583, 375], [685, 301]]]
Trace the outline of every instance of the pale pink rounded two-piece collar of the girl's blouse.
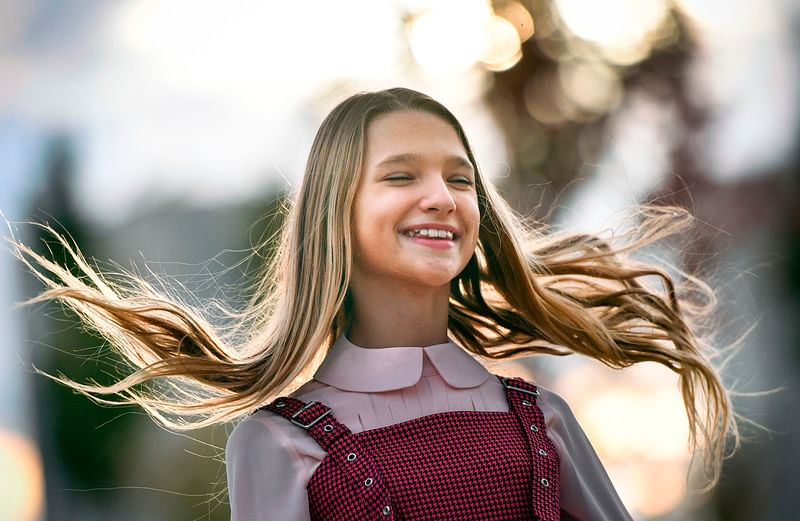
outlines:
[[426, 347], [365, 348], [341, 335], [314, 379], [344, 391], [383, 392], [411, 387], [422, 376], [423, 351], [452, 387], [477, 387], [491, 373], [452, 340]]

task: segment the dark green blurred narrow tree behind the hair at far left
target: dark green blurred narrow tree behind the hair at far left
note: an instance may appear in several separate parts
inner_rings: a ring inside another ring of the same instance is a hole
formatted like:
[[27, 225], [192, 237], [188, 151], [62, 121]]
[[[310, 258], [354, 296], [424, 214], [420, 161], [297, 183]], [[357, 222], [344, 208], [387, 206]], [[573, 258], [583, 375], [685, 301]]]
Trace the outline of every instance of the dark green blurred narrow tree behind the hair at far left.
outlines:
[[[87, 226], [76, 211], [72, 190], [75, 186], [75, 155], [71, 139], [66, 135], [51, 137], [44, 153], [44, 189], [34, 200], [30, 215], [43, 219], [64, 232], [87, 255], [94, 252], [88, 239]], [[40, 252], [55, 262], [75, 271], [63, 247], [51, 237], [39, 233], [29, 240]], [[30, 279], [33, 281], [33, 279]], [[41, 291], [31, 287], [31, 295]], [[102, 342], [81, 328], [74, 316], [67, 315], [57, 304], [46, 305], [32, 337], [36, 346], [32, 363], [50, 374], [63, 373], [78, 381], [94, 378], [108, 382], [114, 372], [113, 356], [96, 356]], [[67, 489], [108, 486], [119, 476], [120, 447], [135, 420], [121, 410], [98, 407], [85, 397], [46, 378], [34, 379], [35, 416], [39, 442], [45, 463], [47, 519], [80, 517], [83, 503], [80, 496]], [[113, 494], [104, 495], [110, 502]], [[93, 507], [94, 508], [94, 507]]]

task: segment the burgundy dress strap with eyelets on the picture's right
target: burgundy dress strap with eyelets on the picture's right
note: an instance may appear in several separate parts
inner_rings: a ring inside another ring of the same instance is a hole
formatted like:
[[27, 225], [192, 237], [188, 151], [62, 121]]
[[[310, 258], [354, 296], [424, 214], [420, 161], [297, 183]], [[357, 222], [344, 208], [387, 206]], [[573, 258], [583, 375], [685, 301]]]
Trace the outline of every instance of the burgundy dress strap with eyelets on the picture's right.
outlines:
[[516, 416], [528, 441], [536, 519], [558, 521], [561, 510], [559, 457], [556, 446], [547, 437], [544, 414], [536, 404], [539, 389], [521, 378], [498, 378], [506, 390], [508, 408]]

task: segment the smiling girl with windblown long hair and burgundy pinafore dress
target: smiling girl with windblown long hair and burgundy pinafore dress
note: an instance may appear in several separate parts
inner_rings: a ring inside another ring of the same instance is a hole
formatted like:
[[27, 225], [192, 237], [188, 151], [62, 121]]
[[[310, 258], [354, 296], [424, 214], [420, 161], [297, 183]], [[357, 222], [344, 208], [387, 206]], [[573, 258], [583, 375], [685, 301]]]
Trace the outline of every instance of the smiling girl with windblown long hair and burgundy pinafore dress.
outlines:
[[[136, 367], [111, 386], [60, 381], [174, 429], [245, 417], [226, 450], [235, 521], [616, 521], [630, 515], [567, 404], [480, 360], [667, 366], [713, 484], [736, 430], [691, 325], [703, 310], [627, 255], [688, 216], [641, 216], [618, 248], [538, 233], [481, 177], [453, 114], [396, 88], [352, 96], [322, 123], [235, 327], [139, 278], [108, 280], [63, 239], [86, 278], [14, 244], [49, 288], [34, 301], [66, 302]], [[643, 286], [652, 276], [666, 294]]]

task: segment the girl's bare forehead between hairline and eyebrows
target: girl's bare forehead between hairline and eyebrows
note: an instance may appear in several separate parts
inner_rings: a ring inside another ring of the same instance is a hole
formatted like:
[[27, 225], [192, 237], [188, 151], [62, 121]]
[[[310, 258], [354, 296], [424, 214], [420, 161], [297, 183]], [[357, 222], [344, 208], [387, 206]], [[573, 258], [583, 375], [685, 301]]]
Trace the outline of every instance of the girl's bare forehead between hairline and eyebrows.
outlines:
[[367, 128], [366, 163], [392, 154], [459, 155], [466, 150], [456, 129], [445, 119], [422, 111], [382, 114]]

